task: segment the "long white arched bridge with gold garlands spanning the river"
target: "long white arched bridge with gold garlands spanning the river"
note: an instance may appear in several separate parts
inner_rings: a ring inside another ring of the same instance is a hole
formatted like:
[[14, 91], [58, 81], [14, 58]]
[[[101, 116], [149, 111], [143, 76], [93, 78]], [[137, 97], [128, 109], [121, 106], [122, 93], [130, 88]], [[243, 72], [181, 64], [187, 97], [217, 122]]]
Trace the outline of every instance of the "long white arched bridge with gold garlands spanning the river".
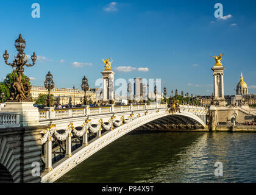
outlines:
[[[180, 105], [173, 113], [167, 104], [48, 108], [38, 111], [38, 126], [22, 127], [22, 116], [1, 112], [2, 180], [54, 182], [134, 129], [207, 129], [206, 115], [207, 108], [192, 105]], [[18, 137], [13, 139], [13, 133]], [[31, 176], [33, 161], [40, 162], [39, 177]]]

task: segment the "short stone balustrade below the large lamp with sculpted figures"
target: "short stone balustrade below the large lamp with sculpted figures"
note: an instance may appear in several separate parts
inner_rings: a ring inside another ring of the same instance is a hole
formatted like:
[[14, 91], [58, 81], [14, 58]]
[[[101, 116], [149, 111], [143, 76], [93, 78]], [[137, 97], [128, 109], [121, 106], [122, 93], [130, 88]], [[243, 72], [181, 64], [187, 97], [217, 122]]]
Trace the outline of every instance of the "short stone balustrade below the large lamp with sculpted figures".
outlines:
[[12, 112], [0, 112], [0, 129], [9, 127], [20, 127], [20, 115]]

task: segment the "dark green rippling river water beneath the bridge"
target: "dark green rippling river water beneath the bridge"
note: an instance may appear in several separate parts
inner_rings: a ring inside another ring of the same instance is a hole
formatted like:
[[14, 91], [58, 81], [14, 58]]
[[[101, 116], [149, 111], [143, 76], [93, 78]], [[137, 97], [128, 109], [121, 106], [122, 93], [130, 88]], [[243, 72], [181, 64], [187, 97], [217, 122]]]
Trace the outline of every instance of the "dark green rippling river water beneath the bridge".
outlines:
[[56, 182], [256, 182], [256, 133], [125, 135]]

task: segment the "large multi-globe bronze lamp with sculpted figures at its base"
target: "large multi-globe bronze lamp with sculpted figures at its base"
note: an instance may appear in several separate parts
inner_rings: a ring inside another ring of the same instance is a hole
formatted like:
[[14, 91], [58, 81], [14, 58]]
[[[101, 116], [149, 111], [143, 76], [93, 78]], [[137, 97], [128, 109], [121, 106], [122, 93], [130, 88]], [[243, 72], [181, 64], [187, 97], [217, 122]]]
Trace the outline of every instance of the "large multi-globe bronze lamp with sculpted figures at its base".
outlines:
[[13, 77], [13, 83], [10, 84], [10, 98], [9, 101], [32, 101], [29, 97], [31, 86], [29, 84], [29, 78], [26, 79], [26, 82], [23, 83], [23, 73], [24, 73], [24, 66], [34, 66], [35, 61], [37, 60], [37, 55], [35, 52], [31, 56], [32, 64], [27, 63], [28, 60], [25, 59], [26, 54], [24, 53], [24, 49], [26, 48], [26, 41], [22, 38], [21, 34], [19, 38], [15, 41], [15, 48], [18, 54], [15, 56], [15, 60], [13, 63], [8, 63], [9, 54], [7, 50], [5, 50], [2, 57], [4, 57], [4, 62], [6, 65], [12, 66], [13, 71], [16, 70], [18, 77]]

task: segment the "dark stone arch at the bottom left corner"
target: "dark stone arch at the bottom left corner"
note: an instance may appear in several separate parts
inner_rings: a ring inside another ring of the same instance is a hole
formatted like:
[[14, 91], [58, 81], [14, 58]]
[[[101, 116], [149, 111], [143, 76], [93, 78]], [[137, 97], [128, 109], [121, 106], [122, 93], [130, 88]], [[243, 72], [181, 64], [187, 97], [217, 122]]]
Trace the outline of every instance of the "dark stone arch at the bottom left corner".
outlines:
[[19, 182], [20, 174], [7, 138], [0, 137], [0, 182]]

